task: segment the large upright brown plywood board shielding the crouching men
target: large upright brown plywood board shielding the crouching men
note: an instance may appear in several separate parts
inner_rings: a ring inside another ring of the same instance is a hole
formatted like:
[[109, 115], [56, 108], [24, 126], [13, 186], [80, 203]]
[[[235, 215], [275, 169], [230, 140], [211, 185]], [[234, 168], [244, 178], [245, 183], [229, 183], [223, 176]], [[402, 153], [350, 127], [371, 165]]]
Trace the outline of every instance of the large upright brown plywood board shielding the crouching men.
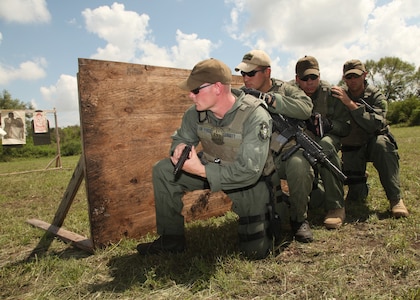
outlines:
[[[189, 73], [79, 59], [84, 178], [95, 247], [155, 230], [151, 171], [158, 160], [168, 156], [170, 135], [192, 105], [188, 93], [177, 87]], [[242, 77], [235, 76], [233, 86], [241, 85]], [[223, 193], [206, 193], [184, 197], [186, 220], [221, 215], [230, 208]], [[198, 209], [206, 197], [211, 201]]]

